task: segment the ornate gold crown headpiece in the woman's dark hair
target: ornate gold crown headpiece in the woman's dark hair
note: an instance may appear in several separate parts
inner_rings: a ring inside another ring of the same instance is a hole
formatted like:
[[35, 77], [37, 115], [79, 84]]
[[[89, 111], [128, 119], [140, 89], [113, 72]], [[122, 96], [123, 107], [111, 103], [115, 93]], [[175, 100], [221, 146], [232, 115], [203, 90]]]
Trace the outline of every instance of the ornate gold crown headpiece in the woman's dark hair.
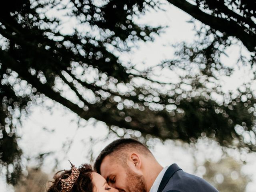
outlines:
[[[68, 160], [70, 162], [70, 160]], [[74, 186], [74, 183], [76, 182], [80, 171], [78, 168], [76, 168], [71, 162], [71, 175], [66, 179], [60, 179], [61, 182], [61, 190], [60, 192], [69, 192], [72, 187]]]

